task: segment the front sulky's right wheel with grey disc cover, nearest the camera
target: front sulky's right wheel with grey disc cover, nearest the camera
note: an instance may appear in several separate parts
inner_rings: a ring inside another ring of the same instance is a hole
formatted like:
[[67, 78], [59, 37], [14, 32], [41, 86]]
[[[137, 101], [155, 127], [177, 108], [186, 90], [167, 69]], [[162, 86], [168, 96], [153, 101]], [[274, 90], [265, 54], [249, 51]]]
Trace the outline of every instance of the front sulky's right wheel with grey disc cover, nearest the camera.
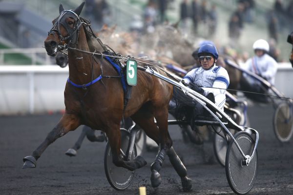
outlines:
[[[252, 154], [254, 140], [246, 132], [234, 135], [245, 155]], [[244, 157], [233, 140], [230, 141], [226, 155], [226, 176], [230, 188], [238, 195], [247, 194], [254, 185], [257, 174], [257, 152], [255, 151], [249, 165], [243, 165]]]

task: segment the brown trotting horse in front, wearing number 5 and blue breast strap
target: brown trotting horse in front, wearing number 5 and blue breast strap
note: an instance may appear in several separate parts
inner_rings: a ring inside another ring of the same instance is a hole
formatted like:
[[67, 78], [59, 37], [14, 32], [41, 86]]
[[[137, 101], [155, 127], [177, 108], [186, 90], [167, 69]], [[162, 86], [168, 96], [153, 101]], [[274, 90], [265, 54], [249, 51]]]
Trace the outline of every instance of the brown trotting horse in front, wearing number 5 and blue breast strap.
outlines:
[[93, 53], [90, 53], [94, 50], [104, 51], [105, 46], [101, 43], [100, 48], [95, 48], [94, 43], [88, 43], [92, 34], [87, 31], [89, 22], [80, 17], [83, 6], [84, 2], [72, 11], [64, 10], [60, 5], [60, 16], [53, 20], [53, 27], [44, 41], [45, 49], [50, 56], [55, 56], [64, 44], [68, 45], [69, 78], [64, 91], [65, 113], [32, 156], [24, 157], [23, 168], [35, 168], [37, 159], [51, 143], [82, 124], [105, 132], [116, 166], [131, 171], [143, 167], [146, 161], [141, 156], [130, 161], [121, 157], [120, 121], [124, 116], [131, 117], [145, 130], [147, 136], [161, 146], [151, 165], [152, 186], [158, 187], [161, 183], [159, 171], [167, 154], [181, 177], [183, 190], [190, 190], [191, 180], [172, 148], [172, 140], [167, 129], [168, 102], [172, 96], [172, 85], [144, 72], [138, 72], [137, 86], [133, 87], [132, 98], [125, 108], [121, 76], [117, 77], [117, 71], [108, 60], [102, 56], [95, 58]]

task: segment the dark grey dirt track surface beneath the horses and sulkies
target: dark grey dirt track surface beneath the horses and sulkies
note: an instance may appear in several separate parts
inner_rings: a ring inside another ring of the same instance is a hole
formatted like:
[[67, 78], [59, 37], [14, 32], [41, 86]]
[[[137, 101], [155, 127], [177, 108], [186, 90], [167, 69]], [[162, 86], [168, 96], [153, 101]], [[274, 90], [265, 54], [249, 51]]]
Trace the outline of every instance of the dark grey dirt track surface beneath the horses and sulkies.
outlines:
[[[250, 107], [251, 127], [260, 134], [258, 145], [258, 175], [251, 195], [293, 194], [293, 140], [281, 144], [272, 129], [271, 106]], [[109, 185], [104, 171], [105, 142], [84, 140], [76, 157], [65, 156], [81, 133], [81, 128], [61, 137], [49, 146], [37, 161], [35, 169], [21, 169], [22, 158], [31, 155], [54, 128], [61, 115], [0, 117], [0, 194], [1, 195], [138, 195], [140, 186], [146, 186], [147, 195], [226, 195], [233, 194], [226, 179], [225, 168], [213, 159], [211, 143], [202, 146], [183, 143], [178, 126], [169, 128], [173, 146], [185, 162], [192, 179], [192, 191], [182, 191], [180, 177], [166, 157], [161, 170], [162, 184], [150, 185], [150, 164], [155, 153], [143, 156], [147, 165], [136, 171], [132, 185], [125, 191], [116, 191]], [[206, 153], [201, 152], [204, 148]]]

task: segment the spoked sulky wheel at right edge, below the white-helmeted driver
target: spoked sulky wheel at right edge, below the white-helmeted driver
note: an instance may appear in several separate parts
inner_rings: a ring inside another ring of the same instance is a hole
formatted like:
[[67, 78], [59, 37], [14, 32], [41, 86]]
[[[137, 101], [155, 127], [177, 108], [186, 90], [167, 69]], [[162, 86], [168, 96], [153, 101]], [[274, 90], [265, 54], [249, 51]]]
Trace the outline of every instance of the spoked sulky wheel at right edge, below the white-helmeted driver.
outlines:
[[282, 102], [278, 105], [273, 116], [273, 130], [281, 142], [290, 140], [293, 134], [292, 105]]

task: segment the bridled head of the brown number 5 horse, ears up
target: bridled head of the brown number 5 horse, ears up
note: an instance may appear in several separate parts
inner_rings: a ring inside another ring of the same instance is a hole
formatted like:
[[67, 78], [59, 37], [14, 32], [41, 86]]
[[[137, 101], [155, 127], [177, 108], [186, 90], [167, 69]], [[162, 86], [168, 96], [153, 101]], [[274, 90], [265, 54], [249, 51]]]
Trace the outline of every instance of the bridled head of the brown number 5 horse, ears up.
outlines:
[[63, 5], [60, 4], [60, 15], [52, 21], [53, 27], [44, 41], [48, 55], [56, 56], [59, 49], [58, 46], [77, 44], [79, 28], [84, 23], [80, 17], [83, 7], [84, 2], [75, 10], [64, 10]]

